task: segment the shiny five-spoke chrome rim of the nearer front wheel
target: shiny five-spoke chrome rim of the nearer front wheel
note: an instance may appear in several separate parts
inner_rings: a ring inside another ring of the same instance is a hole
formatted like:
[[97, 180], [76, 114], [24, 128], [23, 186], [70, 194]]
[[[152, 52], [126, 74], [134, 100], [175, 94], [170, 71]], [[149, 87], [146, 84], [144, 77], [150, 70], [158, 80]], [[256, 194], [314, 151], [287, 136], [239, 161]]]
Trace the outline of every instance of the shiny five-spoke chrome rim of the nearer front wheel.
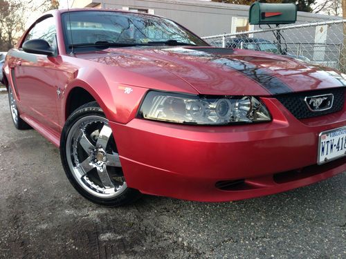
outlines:
[[91, 195], [114, 198], [127, 189], [116, 143], [104, 117], [82, 117], [71, 127], [66, 156], [73, 177]]

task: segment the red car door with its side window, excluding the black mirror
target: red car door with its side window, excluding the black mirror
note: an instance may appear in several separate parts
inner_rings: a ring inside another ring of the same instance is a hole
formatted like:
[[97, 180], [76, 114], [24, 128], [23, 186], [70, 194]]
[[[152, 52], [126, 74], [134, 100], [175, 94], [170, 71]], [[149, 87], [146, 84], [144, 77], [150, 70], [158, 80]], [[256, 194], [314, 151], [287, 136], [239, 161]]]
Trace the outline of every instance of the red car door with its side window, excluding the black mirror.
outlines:
[[[44, 39], [57, 52], [55, 19], [45, 17], [35, 23], [22, 44], [30, 39]], [[15, 77], [24, 114], [59, 133], [57, 98], [60, 97], [60, 88], [57, 57], [29, 54], [21, 48], [16, 56]]]

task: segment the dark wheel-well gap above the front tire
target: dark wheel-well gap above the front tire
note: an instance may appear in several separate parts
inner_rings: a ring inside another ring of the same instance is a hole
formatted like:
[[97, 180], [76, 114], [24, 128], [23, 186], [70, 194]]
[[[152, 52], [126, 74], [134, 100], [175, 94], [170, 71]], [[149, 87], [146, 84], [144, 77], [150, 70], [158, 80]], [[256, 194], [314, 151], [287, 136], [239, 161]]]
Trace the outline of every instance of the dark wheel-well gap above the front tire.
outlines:
[[89, 102], [95, 102], [95, 98], [87, 90], [81, 87], [73, 88], [66, 101], [65, 121], [73, 111]]

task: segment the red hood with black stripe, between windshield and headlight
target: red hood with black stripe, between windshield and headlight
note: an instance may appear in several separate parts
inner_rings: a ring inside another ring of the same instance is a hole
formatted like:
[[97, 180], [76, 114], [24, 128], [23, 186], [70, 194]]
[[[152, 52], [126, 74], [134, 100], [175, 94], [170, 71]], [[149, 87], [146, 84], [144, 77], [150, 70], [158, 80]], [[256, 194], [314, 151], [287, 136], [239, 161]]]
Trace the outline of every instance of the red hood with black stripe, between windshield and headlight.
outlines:
[[[109, 48], [79, 58], [116, 66], [140, 77], [176, 77], [203, 95], [277, 95], [346, 86], [346, 75], [289, 57], [209, 47]], [[155, 73], [154, 71], [160, 71]], [[127, 81], [129, 80], [129, 81]], [[122, 79], [123, 84], [134, 84]], [[138, 82], [138, 84], [144, 84]], [[160, 88], [159, 86], [145, 86]], [[161, 89], [170, 90], [170, 89]]]

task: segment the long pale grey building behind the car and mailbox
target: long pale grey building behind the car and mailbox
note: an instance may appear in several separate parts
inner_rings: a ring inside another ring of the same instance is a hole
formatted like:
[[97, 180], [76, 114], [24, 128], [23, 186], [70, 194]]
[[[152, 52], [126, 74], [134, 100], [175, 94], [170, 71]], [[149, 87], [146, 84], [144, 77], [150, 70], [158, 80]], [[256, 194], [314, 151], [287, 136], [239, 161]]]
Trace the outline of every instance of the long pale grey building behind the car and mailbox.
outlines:
[[[248, 24], [249, 6], [197, 0], [75, 0], [73, 8], [115, 8], [146, 12], [172, 19], [203, 37], [253, 29]], [[340, 19], [298, 12], [298, 23]]]

